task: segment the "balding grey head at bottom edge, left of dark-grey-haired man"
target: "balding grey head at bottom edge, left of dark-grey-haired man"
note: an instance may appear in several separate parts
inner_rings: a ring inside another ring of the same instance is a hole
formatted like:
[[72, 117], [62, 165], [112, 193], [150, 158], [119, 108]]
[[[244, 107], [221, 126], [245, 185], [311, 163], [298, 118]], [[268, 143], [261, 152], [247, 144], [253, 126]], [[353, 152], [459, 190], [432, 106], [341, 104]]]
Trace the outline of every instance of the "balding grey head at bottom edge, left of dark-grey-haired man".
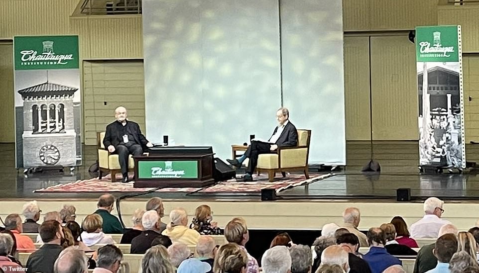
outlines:
[[53, 265], [54, 273], [88, 273], [87, 258], [78, 247], [64, 249]]

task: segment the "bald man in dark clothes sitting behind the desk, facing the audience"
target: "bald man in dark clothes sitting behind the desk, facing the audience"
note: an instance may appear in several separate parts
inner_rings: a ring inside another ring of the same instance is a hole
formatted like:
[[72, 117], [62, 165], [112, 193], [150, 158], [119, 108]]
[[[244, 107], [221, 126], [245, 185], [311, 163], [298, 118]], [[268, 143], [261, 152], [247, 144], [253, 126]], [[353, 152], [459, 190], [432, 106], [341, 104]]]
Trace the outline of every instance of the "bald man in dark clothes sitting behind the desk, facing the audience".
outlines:
[[107, 125], [103, 145], [110, 153], [117, 153], [120, 161], [121, 182], [128, 182], [128, 156], [139, 156], [143, 148], [153, 147], [153, 144], [146, 140], [141, 134], [138, 123], [126, 120], [126, 108], [123, 106], [115, 109], [116, 121]]

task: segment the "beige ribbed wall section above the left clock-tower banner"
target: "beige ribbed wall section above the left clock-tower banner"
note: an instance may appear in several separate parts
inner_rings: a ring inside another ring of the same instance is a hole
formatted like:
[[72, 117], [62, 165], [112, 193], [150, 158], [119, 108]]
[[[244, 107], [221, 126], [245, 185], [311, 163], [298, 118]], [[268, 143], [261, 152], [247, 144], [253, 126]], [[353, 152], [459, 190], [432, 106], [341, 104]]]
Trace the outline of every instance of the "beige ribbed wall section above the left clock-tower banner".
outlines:
[[69, 16], [78, 0], [2, 0], [0, 38], [71, 34]]

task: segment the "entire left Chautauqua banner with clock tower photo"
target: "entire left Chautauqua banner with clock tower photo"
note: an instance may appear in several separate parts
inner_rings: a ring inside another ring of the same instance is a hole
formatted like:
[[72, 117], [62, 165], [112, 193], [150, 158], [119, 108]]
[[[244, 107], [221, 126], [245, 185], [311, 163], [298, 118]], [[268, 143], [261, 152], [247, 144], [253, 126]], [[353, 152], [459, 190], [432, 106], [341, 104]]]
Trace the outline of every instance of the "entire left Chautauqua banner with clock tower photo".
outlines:
[[82, 164], [78, 36], [13, 38], [16, 168]]

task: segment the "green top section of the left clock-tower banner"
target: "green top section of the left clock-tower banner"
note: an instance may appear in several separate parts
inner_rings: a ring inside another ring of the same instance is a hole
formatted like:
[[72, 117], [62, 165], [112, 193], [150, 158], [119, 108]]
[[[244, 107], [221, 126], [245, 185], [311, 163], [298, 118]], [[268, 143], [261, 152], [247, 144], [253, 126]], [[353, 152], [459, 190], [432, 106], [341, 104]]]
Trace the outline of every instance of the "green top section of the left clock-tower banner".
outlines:
[[17, 36], [15, 70], [79, 68], [78, 36]]

